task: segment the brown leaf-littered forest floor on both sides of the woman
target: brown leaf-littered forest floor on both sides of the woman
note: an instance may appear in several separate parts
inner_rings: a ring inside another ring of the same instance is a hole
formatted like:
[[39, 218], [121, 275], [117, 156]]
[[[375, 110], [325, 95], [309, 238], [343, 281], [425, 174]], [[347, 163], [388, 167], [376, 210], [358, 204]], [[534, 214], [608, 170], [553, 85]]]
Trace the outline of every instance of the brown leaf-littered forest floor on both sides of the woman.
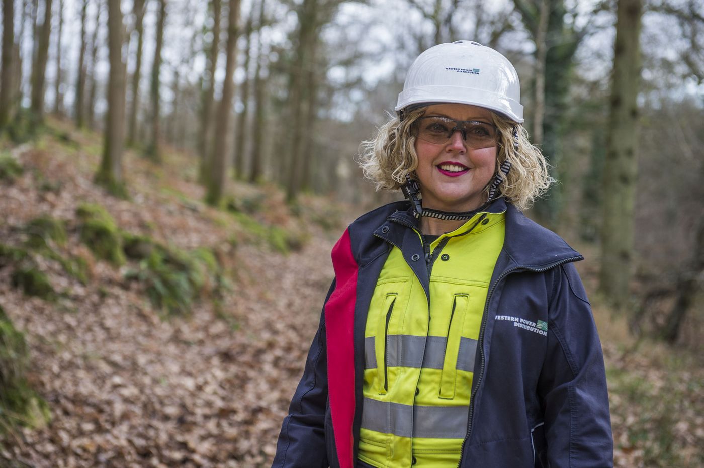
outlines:
[[[275, 187], [246, 184], [233, 188], [234, 213], [210, 208], [194, 158], [177, 152], [161, 165], [127, 152], [130, 198], [120, 200], [92, 184], [99, 137], [51, 127], [34, 144], [0, 142], [24, 168], [0, 182], [0, 239], [20, 246], [30, 220], [63, 220], [68, 241], [53, 247], [83, 258], [89, 275], [81, 282], [36, 254], [60, 291], [46, 301], [13, 288], [0, 266], [0, 305], [25, 333], [30, 381], [51, 410], [49, 424], [4, 438], [0, 467], [270, 466], [332, 279], [330, 248], [358, 213], [312, 196], [291, 210]], [[75, 212], [86, 202], [126, 232], [184, 251], [212, 249], [225, 286], [203, 286], [190, 312], [167, 316], [144, 284], [127, 279], [142, 263], [115, 267], [82, 243]], [[275, 228], [286, 233], [285, 248], [262, 240]], [[583, 264], [593, 291], [596, 263]], [[703, 358], [634, 341], [598, 297], [594, 312], [616, 466], [702, 466]]]

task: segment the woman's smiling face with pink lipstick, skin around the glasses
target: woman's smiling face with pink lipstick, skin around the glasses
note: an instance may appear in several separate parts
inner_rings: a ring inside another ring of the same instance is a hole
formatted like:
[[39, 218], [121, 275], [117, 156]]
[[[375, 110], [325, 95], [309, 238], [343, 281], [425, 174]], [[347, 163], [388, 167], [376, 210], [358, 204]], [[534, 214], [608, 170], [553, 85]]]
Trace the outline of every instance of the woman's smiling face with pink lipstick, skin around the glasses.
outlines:
[[[443, 103], [428, 106], [426, 115], [453, 120], [491, 123], [491, 111], [468, 104]], [[469, 211], [484, 203], [482, 191], [494, 177], [497, 147], [472, 149], [455, 131], [444, 144], [415, 139], [418, 167], [415, 170], [425, 208]]]

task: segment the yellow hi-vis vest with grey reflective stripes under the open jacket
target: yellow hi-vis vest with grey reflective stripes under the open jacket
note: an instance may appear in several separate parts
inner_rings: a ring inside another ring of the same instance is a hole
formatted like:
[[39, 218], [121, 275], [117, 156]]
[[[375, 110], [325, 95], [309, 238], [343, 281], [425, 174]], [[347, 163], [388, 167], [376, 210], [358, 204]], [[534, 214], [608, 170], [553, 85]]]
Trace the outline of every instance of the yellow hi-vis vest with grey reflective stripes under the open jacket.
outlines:
[[504, 231], [504, 213], [477, 213], [433, 241], [439, 256], [430, 298], [401, 251], [389, 253], [367, 314], [359, 460], [378, 468], [457, 466]]

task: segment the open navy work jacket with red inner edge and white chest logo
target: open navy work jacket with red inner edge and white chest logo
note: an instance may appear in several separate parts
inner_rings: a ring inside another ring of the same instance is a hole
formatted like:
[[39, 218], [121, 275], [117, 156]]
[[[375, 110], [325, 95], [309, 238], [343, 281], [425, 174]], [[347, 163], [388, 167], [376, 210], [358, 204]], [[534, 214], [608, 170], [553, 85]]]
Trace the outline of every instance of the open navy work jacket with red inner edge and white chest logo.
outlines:
[[[490, 206], [503, 208], [459, 467], [612, 467], [601, 343], [573, 265], [582, 255], [503, 199]], [[335, 280], [272, 467], [360, 466], [365, 323], [391, 248], [429, 283], [425, 262], [412, 261], [425, 258], [412, 226], [410, 204], [390, 203], [359, 217], [334, 246]], [[523, 326], [539, 320], [546, 334]]]

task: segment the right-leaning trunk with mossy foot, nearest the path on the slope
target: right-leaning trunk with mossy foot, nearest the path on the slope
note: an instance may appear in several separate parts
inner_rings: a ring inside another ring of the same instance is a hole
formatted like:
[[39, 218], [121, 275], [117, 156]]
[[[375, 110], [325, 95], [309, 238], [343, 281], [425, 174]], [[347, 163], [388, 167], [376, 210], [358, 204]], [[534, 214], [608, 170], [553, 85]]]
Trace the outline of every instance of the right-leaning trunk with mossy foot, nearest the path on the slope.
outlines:
[[234, 68], [237, 66], [237, 21], [239, 20], [239, 0], [230, 0], [230, 13], [227, 19], [227, 49], [225, 62], [225, 81], [222, 83], [222, 99], [215, 121], [215, 141], [213, 141], [213, 158], [210, 167], [210, 181], [206, 201], [218, 205], [222, 198], [227, 175], [227, 127], [234, 94]]

